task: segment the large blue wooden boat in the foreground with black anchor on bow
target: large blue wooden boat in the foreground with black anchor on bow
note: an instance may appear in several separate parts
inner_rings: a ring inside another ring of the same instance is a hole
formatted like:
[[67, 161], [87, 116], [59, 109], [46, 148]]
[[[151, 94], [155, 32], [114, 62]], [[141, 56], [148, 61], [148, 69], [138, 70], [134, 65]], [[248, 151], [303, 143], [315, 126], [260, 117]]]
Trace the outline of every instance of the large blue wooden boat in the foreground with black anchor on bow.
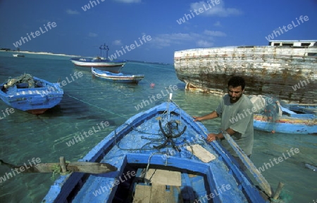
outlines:
[[42, 202], [268, 202], [206, 133], [171, 100], [139, 112], [79, 160], [118, 171], [60, 176]]

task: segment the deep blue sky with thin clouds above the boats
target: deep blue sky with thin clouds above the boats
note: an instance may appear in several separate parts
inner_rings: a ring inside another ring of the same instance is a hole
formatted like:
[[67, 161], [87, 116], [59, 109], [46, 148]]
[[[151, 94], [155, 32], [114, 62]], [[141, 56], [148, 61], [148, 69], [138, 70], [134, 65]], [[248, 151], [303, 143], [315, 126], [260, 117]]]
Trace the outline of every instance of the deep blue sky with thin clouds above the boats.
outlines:
[[24, 37], [21, 51], [96, 56], [106, 43], [118, 59], [173, 63], [183, 49], [267, 45], [290, 24], [274, 39], [317, 39], [316, 11], [316, 0], [0, 0], [0, 48]]

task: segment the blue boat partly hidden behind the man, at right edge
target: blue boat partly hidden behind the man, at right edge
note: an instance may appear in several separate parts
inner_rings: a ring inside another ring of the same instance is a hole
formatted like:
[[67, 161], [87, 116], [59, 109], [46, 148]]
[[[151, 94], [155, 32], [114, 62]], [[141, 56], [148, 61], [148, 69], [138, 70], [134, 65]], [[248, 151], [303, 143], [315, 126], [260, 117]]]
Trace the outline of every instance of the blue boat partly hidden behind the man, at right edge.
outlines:
[[317, 134], [317, 105], [287, 104], [266, 96], [249, 96], [254, 103], [254, 129], [271, 133]]

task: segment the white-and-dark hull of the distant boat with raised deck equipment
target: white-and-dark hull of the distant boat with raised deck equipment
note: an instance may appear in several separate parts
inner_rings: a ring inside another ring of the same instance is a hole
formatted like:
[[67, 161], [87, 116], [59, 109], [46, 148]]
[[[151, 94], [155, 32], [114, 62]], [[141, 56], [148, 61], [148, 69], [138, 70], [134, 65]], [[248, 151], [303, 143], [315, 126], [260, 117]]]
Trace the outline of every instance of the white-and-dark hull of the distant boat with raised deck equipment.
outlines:
[[120, 72], [125, 60], [101, 60], [87, 58], [71, 58], [70, 61], [80, 67], [98, 67], [109, 72]]

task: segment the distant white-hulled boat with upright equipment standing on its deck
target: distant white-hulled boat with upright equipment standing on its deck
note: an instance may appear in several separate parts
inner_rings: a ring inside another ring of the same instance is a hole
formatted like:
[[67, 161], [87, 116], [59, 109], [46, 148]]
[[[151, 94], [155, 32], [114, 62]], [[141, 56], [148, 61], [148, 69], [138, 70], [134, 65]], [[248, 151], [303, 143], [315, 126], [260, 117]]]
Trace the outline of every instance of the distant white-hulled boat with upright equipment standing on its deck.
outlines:
[[[80, 67], [98, 67], [101, 70], [106, 70], [108, 72], [119, 73], [122, 67], [125, 65], [126, 60], [109, 60], [108, 51], [109, 48], [106, 44], [101, 45], [100, 56], [95, 58], [70, 58], [70, 61]], [[101, 51], [106, 51], [106, 58], [101, 56]]]

